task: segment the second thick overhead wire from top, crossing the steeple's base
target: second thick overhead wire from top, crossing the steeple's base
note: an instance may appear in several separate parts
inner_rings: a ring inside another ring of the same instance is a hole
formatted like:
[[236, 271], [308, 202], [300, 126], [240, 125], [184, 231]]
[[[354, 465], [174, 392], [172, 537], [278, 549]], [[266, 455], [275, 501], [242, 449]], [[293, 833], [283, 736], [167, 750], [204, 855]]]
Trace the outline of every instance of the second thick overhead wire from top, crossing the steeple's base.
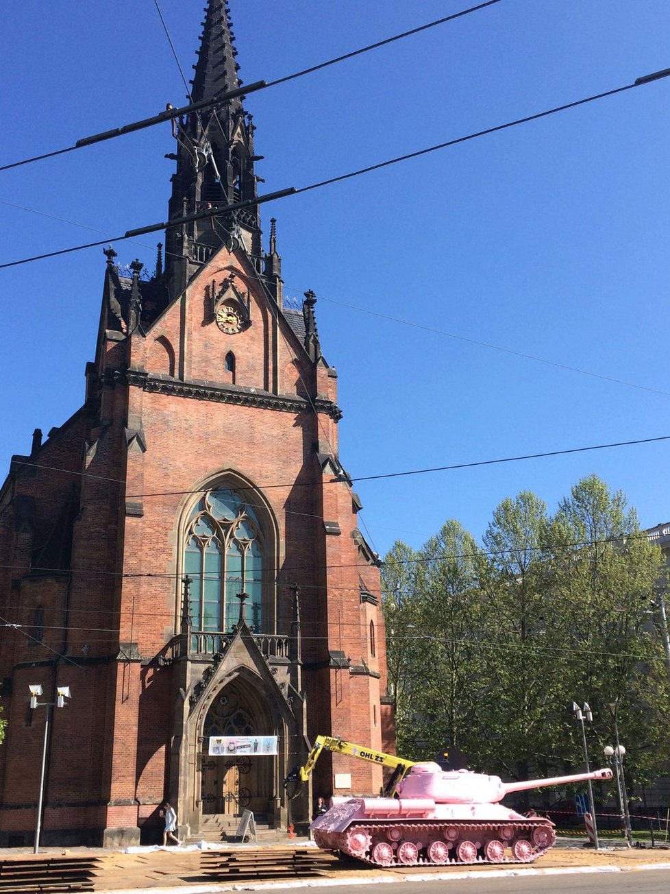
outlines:
[[[459, 143], [465, 143], [470, 139], [477, 139], [478, 137], [488, 136], [491, 133], [497, 133], [498, 131], [505, 131], [509, 128], [516, 127], [519, 124], [526, 124], [532, 121], [538, 121], [540, 118], [546, 118], [549, 115], [557, 114], [558, 112], [565, 112], [568, 109], [577, 108], [580, 105], [586, 105], [587, 103], [595, 102], [598, 99], [605, 99], [606, 97], [616, 96], [618, 93], [624, 93], [626, 90], [631, 90], [635, 87], [639, 87], [642, 84], [649, 84], [652, 80], [659, 80], [661, 78], [666, 78], [670, 76], [670, 68], [666, 68], [661, 72], [653, 72], [652, 74], [647, 74], [642, 76], [641, 78], [637, 78], [632, 82], [632, 84], [626, 84], [624, 87], [616, 87], [612, 90], [606, 90], [603, 93], [596, 93], [593, 96], [585, 97], [583, 99], [576, 99], [572, 103], [565, 103], [564, 105], [556, 105], [553, 108], [547, 109], [544, 112], [537, 112], [531, 115], [525, 115], [523, 118], [515, 118], [514, 121], [506, 122], [504, 124], [497, 124], [494, 127], [489, 127], [484, 129], [483, 131], [475, 131], [474, 133], [467, 134], [465, 137], [456, 137], [456, 139], [448, 139], [443, 143], [438, 143], [436, 146], [431, 146], [424, 149], [418, 149], [416, 152], [410, 152], [404, 156], [398, 156], [396, 158], [389, 158], [388, 161], [379, 162], [377, 164], [370, 164], [367, 167], [359, 168], [357, 171], [351, 171], [349, 173], [339, 174], [336, 177], [330, 177], [327, 180], [318, 181], [316, 183], [311, 183], [308, 186], [303, 187], [289, 187], [286, 190], [278, 190], [276, 192], [269, 193], [266, 196], [258, 196], [254, 199], [249, 199], [246, 202], [237, 202], [233, 205], [221, 206], [221, 207], [212, 207], [207, 211], [199, 212], [195, 215], [187, 215], [185, 217], [176, 217], [171, 221], [166, 221], [163, 223], [152, 223], [149, 226], [138, 227], [134, 230], [128, 230], [123, 235], [115, 236], [112, 239], [100, 240], [97, 242], [88, 242], [86, 245], [77, 245], [72, 246], [70, 249], [59, 249], [58, 251], [50, 251], [46, 252], [42, 255], [34, 255], [32, 257], [23, 257], [18, 261], [9, 261], [4, 264], [0, 264], [0, 270], [4, 270], [6, 267], [19, 266], [21, 264], [29, 264], [32, 261], [40, 261], [44, 260], [47, 257], [57, 257], [59, 255], [69, 254], [73, 251], [81, 251], [82, 249], [92, 249], [96, 248], [96, 246], [105, 245], [105, 242], [121, 242], [126, 239], [133, 239], [135, 236], [145, 235], [149, 232], [159, 232], [161, 230], [166, 230], [168, 227], [180, 226], [181, 223], [188, 223], [190, 221], [201, 220], [206, 217], [215, 217], [216, 215], [230, 214], [231, 211], [238, 211], [241, 208], [245, 208], [250, 205], [260, 205], [263, 202], [271, 202], [279, 198], [286, 198], [287, 196], [297, 196], [303, 192], [309, 192], [310, 190], [318, 190], [323, 186], [330, 186], [332, 183], [339, 183], [341, 181], [350, 180], [352, 177], [359, 177], [364, 173], [372, 173], [373, 171], [379, 171], [381, 168], [389, 167], [391, 164], [398, 164], [399, 162], [406, 162], [412, 158], [419, 158], [421, 156], [428, 155], [431, 152], [437, 152], [440, 149], [446, 149], [452, 146], [457, 146]], [[242, 89], [244, 92], [244, 89]], [[99, 135], [100, 136], [100, 135]]]

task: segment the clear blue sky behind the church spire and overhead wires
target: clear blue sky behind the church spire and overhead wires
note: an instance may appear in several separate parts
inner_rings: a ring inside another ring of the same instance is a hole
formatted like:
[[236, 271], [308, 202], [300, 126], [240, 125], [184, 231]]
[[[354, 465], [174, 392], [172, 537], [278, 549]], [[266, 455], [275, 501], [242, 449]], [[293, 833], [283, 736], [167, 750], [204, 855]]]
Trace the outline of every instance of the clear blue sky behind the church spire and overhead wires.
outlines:
[[[468, 5], [230, 4], [247, 82]], [[188, 77], [203, 4], [160, 5]], [[32, 0], [3, 14], [0, 164], [185, 101], [153, 0]], [[501, 0], [248, 97], [260, 189], [321, 181], [668, 66], [667, 0]], [[670, 79], [658, 80], [264, 207], [266, 233], [278, 219], [286, 293], [319, 298], [352, 477], [670, 434], [669, 104]], [[172, 149], [161, 125], [0, 173], [0, 263], [164, 220]], [[118, 260], [152, 267], [156, 241], [116, 242]], [[98, 248], [0, 271], [2, 477], [34, 428], [46, 434], [83, 400], [104, 269]], [[593, 472], [650, 527], [670, 519], [669, 454], [670, 442], [650, 443], [356, 490], [381, 553], [396, 538], [420, 546], [448, 518], [479, 537], [524, 489], [554, 510]]]

